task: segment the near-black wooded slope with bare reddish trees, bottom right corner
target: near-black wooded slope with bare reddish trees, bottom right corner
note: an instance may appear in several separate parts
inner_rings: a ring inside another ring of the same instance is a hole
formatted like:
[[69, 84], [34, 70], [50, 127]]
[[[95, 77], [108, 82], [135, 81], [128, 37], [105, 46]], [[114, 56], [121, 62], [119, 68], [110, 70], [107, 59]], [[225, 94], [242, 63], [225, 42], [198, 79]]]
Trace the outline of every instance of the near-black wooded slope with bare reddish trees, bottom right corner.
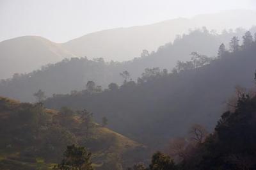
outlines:
[[149, 165], [140, 162], [129, 169], [256, 169], [255, 96], [239, 93], [233, 109], [221, 115], [214, 132], [195, 125], [186, 137], [172, 140], [164, 153], [154, 153]]

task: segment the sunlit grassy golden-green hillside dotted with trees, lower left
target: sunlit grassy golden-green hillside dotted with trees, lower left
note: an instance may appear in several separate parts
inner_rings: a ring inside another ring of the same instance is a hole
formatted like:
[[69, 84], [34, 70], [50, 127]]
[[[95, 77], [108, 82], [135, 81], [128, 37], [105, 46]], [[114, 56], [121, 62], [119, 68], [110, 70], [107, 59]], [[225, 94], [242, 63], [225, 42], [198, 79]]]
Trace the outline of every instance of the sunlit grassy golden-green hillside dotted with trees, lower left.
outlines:
[[85, 110], [54, 111], [0, 97], [0, 169], [51, 169], [72, 144], [92, 152], [95, 169], [125, 169], [145, 157], [145, 146], [106, 128], [107, 120], [92, 119]]

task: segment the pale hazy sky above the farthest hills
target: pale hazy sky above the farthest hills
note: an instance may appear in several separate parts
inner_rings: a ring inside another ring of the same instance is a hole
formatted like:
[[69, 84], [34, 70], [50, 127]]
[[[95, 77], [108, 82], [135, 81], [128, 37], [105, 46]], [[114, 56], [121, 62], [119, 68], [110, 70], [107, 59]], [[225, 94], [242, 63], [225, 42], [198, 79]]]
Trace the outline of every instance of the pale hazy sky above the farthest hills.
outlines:
[[256, 0], [0, 0], [0, 41], [39, 35], [65, 42], [102, 29], [232, 9], [256, 10]]

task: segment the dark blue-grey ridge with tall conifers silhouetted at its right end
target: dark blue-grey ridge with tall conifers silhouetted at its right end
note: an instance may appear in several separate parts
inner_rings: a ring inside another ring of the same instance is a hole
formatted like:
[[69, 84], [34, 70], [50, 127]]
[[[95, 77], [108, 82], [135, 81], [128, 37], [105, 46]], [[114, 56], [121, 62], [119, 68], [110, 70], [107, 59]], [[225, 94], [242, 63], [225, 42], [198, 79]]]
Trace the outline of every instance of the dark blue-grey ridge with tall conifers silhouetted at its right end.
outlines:
[[85, 107], [97, 113], [97, 121], [106, 116], [113, 130], [157, 147], [183, 135], [193, 123], [212, 129], [235, 86], [253, 87], [255, 52], [248, 32], [241, 46], [236, 37], [230, 51], [221, 45], [216, 59], [194, 53], [192, 61], [179, 62], [172, 73], [147, 69], [138, 82], [127, 79], [119, 88], [111, 84], [104, 91], [89, 82], [86, 90], [54, 95], [44, 103], [55, 109]]

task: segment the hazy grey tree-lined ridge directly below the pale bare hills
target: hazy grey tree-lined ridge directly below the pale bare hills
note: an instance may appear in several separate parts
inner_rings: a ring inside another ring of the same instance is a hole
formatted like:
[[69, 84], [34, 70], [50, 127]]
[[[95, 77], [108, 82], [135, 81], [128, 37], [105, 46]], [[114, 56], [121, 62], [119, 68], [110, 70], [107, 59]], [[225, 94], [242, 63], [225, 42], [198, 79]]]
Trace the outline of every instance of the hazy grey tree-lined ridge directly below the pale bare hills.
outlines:
[[[255, 29], [255, 27], [254, 27]], [[93, 81], [96, 86], [107, 88], [111, 82], [122, 84], [124, 78], [121, 72], [127, 70], [129, 75], [125, 79], [137, 80], [145, 68], [160, 68], [172, 70], [177, 60], [188, 61], [191, 52], [198, 52], [207, 56], [216, 56], [218, 47], [222, 42], [228, 46], [232, 36], [244, 35], [243, 29], [221, 35], [210, 33], [207, 29], [191, 31], [188, 35], [177, 38], [173, 43], [160, 47], [156, 52], [149, 54], [144, 50], [140, 58], [123, 63], [104, 62], [104, 59], [72, 58], [44, 66], [24, 75], [15, 74], [12, 79], [0, 82], [0, 95], [16, 98], [24, 102], [35, 101], [33, 93], [42, 89], [47, 97], [54, 93], [70, 93], [86, 88], [88, 81]], [[255, 30], [252, 29], [252, 33]], [[100, 88], [100, 87], [99, 87]]]

